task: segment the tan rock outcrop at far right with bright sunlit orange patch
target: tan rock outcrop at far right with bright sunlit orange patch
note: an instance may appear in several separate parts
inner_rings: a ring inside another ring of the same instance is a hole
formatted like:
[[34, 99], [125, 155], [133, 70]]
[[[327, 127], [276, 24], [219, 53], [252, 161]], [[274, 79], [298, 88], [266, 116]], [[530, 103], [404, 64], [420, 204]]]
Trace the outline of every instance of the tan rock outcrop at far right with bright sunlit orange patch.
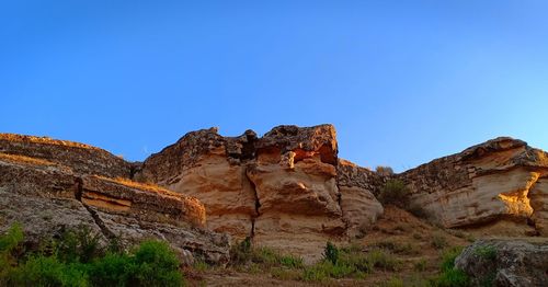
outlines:
[[548, 154], [524, 141], [489, 140], [399, 177], [412, 190], [413, 204], [445, 227], [498, 220], [526, 226], [533, 219], [538, 231], [546, 230]]

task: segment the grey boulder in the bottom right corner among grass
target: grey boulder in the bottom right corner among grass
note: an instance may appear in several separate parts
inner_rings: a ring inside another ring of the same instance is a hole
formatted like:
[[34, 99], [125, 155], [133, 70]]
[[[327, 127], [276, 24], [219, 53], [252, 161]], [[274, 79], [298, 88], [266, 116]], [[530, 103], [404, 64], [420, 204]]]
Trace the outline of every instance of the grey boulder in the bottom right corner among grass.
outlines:
[[479, 240], [463, 251], [455, 266], [473, 286], [548, 286], [548, 240]]

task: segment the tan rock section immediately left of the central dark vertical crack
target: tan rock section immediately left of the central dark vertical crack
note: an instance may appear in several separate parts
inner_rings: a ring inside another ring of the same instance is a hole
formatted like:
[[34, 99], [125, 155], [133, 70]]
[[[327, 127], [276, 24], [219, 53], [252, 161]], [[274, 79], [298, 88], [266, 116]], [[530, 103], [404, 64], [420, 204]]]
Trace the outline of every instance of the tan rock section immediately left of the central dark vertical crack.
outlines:
[[186, 134], [176, 144], [148, 158], [137, 173], [180, 194], [198, 198], [206, 207], [207, 226], [241, 240], [252, 233], [255, 193], [246, 175], [255, 134], [225, 138], [217, 129]]

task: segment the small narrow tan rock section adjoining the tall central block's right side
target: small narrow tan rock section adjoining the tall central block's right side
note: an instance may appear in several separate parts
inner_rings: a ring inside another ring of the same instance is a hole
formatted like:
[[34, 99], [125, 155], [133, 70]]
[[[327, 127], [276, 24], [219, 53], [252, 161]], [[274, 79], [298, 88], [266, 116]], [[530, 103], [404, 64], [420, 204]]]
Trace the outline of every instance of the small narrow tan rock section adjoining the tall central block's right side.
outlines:
[[364, 236], [384, 213], [377, 200], [380, 186], [387, 177], [361, 168], [350, 161], [339, 160], [338, 181], [341, 209], [350, 238]]

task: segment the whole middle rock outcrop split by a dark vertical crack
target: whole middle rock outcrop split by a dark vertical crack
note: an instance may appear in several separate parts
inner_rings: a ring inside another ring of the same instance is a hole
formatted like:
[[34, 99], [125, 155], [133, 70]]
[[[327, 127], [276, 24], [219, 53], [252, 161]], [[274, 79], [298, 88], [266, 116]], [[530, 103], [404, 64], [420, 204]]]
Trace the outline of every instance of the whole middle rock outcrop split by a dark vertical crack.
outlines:
[[332, 125], [278, 126], [261, 138], [210, 128], [152, 154], [136, 179], [195, 196], [215, 231], [320, 256], [326, 241], [357, 236], [383, 213], [373, 195], [380, 176], [339, 165]]

